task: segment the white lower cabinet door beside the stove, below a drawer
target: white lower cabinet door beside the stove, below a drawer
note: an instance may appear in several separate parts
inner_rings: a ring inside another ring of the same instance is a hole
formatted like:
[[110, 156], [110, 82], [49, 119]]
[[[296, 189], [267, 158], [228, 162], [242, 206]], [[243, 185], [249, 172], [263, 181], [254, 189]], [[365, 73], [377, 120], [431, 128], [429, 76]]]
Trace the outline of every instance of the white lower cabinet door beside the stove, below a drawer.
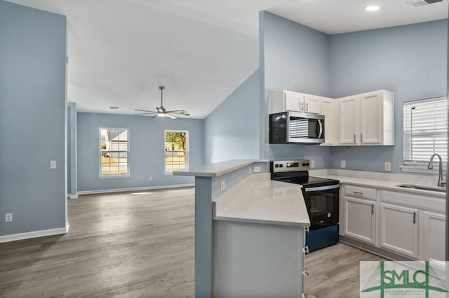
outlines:
[[344, 197], [344, 235], [375, 244], [375, 202]]

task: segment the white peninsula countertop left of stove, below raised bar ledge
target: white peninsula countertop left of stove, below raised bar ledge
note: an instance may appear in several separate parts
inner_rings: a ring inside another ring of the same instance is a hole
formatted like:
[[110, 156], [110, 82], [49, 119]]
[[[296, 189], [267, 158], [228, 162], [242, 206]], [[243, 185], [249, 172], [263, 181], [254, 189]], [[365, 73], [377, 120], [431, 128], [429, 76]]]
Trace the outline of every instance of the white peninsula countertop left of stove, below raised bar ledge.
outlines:
[[284, 226], [310, 226], [301, 187], [252, 174], [213, 200], [213, 219]]

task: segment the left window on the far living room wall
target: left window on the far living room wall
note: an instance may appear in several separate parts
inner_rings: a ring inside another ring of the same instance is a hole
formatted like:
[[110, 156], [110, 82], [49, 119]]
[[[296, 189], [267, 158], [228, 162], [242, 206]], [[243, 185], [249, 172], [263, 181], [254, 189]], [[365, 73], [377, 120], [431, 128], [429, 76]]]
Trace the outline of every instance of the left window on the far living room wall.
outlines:
[[128, 129], [100, 129], [100, 176], [129, 176]]

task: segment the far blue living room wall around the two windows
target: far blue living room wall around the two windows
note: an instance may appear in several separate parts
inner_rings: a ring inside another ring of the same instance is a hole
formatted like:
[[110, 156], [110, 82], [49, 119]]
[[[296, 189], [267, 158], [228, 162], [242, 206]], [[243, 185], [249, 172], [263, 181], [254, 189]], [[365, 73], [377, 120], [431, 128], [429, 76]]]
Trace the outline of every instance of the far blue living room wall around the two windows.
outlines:
[[[130, 176], [99, 179], [100, 127], [129, 129]], [[193, 177], [165, 175], [164, 130], [189, 131], [189, 166], [203, 164], [203, 120], [78, 113], [78, 191], [194, 183]], [[149, 181], [152, 176], [152, 181]]]

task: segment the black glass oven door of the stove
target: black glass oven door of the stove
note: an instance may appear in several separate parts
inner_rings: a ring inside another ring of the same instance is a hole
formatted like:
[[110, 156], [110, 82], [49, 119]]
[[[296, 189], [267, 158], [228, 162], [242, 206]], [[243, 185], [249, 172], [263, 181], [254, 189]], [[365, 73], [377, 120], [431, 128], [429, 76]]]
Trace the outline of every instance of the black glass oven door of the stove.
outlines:
[[340, 185], [304, 187], [302, 195], [310, 219], [310, 230], [338, 224]]

